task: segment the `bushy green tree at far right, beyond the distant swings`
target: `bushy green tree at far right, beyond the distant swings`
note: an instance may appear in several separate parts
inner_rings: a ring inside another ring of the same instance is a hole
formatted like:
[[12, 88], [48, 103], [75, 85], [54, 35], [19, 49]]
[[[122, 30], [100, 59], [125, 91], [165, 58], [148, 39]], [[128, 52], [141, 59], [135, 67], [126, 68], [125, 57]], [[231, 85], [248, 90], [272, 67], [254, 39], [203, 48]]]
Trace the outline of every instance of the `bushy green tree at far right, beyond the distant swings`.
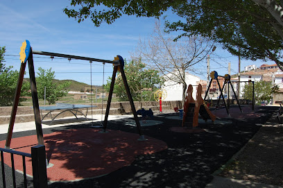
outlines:
[[[260, 105], [261, 101], [271, 101], [271, 94], [279, 92], [277, 85], [272, 85], [271, 82], [258, 81], [255, 82], [255, 103]], [[243, 87], [243, 98], [252, 101], [252, 84], [247, 83]]]

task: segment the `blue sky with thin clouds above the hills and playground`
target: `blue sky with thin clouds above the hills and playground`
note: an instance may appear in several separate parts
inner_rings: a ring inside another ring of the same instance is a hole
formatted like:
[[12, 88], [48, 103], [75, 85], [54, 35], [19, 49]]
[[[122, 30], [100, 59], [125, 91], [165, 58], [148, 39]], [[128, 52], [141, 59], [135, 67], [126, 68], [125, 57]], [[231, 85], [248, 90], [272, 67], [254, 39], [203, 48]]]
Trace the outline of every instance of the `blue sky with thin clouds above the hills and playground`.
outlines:
[[[33, 51], [47, 51], [65, 53], [103, 60], [114, 60], [116, 55], [130, 60], [130, 53], [135, 51], [139, 38], [146, 39], [153, 33], [155, 18], [123, 15], [113, 24], [102, 24], [95, 27], [91, 20], [76, 22], [63, 12], [68, 0], [0, 0], [0, 46], [6, 46], [6, 67], [13, 66], [19, 70], [19, 51], [24, 40], [31, 43]], [[176, 19], [171, 12], [165, 15], [169, 19]], [[112, 76], [112, 65], [85, 60], [67, 60], [49, 56], [33, 55], [35, 74], [38, 67], [55, 71], [55, 78], [59, 80], [71, 79], [92, 85], [106, 83]], [[228, 74], [228, 62], [231, 62], [231, 74], [237, 74], [239, 59], [217, 45], [216, 51], [210, 54], [210, 72], [217, 71], [218, 75]], [[248, 65], [260, 67], [260, 60], [241, 60], [241, 71]], [[92, 69], [90, 67], [92, 66]], [[26, 78], [28, 78], [26, 66]], [[104, 71], [103, 71], [104, 69]], [[206, 58], [196, 69], [206, 72]], [[92, 74], [91, 74], [92, 72]], [[104, 72], [104, 74], [103, 74]], [[196, 75], [206, 80], [207, 75]], [[92, 79], [91, 79], [92, 78]]]

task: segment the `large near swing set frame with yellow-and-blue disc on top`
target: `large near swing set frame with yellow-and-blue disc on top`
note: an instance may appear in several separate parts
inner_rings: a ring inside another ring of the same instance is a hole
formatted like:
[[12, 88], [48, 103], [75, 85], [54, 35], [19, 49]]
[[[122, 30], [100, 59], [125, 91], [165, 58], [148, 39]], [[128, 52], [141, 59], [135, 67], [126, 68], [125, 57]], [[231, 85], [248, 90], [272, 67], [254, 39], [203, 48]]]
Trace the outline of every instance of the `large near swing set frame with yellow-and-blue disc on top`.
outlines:
[[17, 87], [15, 91], [15, 97], [14, 97], [14, 102], [12, 105], [12, 112], [10, 115], [10, 123], [8, 127], [8, 134], [6, 137], [6, 145], [5, 148], [10, 149], [10, 142], [12, 139], [12, 130], [14, 128], [15, 124], [15, 118], [17, 114], [17, 107], [19, 105], [19, 96], [21, 94], [21, 88], [22, 88], [22, 83], [24, 80], [24, 71], [26, 69], [26, 62], [28, 62], [28, 71], [29, 71], [29, 76], [30, 76], [30, 83], [31, 83], [31, 95], [33, 99], [33, 112], [35, 116], [35, 128], [36, 128], [36, 133], [37, 133], [37, 142], [38, 144], [44, 145], [44, 139], [43, 139], [43, 133], [42, 133], [42, 120], [40, 118], [40, 107], [38, 103], [38, 96], [37, 96], [37, 88], [36, 88], [36, 82], [35, 82], [35, 69], [34, 69], [34, 64], [33, 64], [33, 54], [37, 55], [49, 55], [51, 58], [54, 57], [61, 57], [61, 58], [68, 58], [68, 60], [71, 59], [77, 59], [77, 60], [87, 60], [89, 62], [102, 62], [103, 64], [105, 63], [111, 63], [114, 65], [113, 69], [113, 74], [112, 74], [112, 80], [111, 80], [111, 85], [110, 85], [110, 91], [109, 91], [109, 96], [108, 96], [108, 103], [105, 111], [105, 118], [103, 122], [103, 131], [102, 133], [107, 133], [106, 128], [108, 125], [108, 115], [110, 112], [110, 105], [112, 101], [112, 94], [113, 94], [113, 89], [114, 89], [114, 83], [115, 83], [115, 78], [117, 75], [117, 71], [121, 73], [122, 79], [123, 79], [123, 84], [125, 86], [128, 99], [130, 101], [131, 109], [132, 109], [132, 114], [134, 115], [135, 122], [137, 125], [137, 132], [139, 133], [139, 140], [146, 140], [144, 139], [144, 135], [141, 132], [141, 125], [139, 123], [139, 119], [137, 117], [137, 111], [135, 110], [135, 104], [134, 101], [132, 100], [132, 94], [130, 93], [130, 88], [128, 86], [128, 82], [126, 79], [125, 72], [123, 70], [123, 65], [124, 61], [123, 58], [120, 55], [117, 55], [117, 57], [114, 58], [114, 61], [111, 60], [101, 60], [101, 59], [96, 59], [96, 58], [87, 58], [87, 57], [82, 57], [82, 56], [77, 56], [77, 55], [67, 55], [67, 54], [62, 54], [62, 53], [51, 53], [51, 52], [46, 52], [46, 51], [33, 51], [31, 48], [31, 44], [28, 40], [25, 40], [21, 46], [21, 51], [19, 53], [20, 55], [20, 60], [21, 60], [21, 68], [19, 71], [19, 78], [17, 81]]

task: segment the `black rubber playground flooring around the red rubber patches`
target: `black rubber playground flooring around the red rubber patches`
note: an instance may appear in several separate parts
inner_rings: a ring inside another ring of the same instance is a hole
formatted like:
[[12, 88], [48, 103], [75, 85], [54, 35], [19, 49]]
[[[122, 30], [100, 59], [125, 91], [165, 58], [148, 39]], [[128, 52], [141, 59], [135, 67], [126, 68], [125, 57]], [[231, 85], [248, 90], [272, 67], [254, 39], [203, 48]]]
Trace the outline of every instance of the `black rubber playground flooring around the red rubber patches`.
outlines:
[[[171, 127], [181, 126], [182, 120], [166, 119], [178, 113], [154, 115], [162, 121], [156, 126], [142, 127], [144, 135], [166, 142], [168, 148], [153, 155], [139, 155], [130, 166], [123, 167], [106, 176], [78, 182], [53, 182], [49, 187], [205, 187], [212, 181], [212, 173], [228, 162], [260, 126], [271, 117], [277, 107], [262, 106], [259, 112], [265, 115], [256, 119], [227, 119], [232, 124], [200, 123], [203, 133], [175, 133]], [[221, 119], [223, 121], [225, 119]], [[108, 121], [108, 128], [137, 133], [134, 126], [126, 125], [127, 119]], [[71, 128], [89, 128], [90, 124], [44, 129], [44, 134]], [[35, 135], [35, 130], [14, 133], [13, 137]], [[0, 135], [6, 139], [6, 134]], [[70, 138], [71, 139], [71, 138]], [[6, 166], [9, 170], [9, 167]], [[1, 173], [1, 171], [0, 171]], [[11, 173], [10, 173], [11, 174]], [[17, 187], [22, 187], [22, 174], [17, 173]], [[0, 177], [1, 178], [1, 177]], [[6, 176], [8, 187], [12, 187], [11, 175]], [[0, 180], [2, 181], [2, 179]], [[32, 187], [31, 178], [28, 178]], [[0, 187], [3, 187], [0, 182]]]

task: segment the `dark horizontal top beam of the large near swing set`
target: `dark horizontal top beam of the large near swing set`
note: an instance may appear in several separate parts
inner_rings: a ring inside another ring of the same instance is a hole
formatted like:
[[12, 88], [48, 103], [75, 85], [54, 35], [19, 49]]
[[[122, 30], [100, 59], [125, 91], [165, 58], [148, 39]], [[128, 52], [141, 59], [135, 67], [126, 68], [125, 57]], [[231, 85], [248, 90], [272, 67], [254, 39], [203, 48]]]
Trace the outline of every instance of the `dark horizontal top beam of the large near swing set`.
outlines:
[[77, 55], [68, 55], [68, 54], [62, 54], [62, 53], [52, 53], [52, 52], [46, 52], [46, 51], [33, 51], [33, 54], [37, 55], [49, 55], [49, 56], [55, 56], [60, 58], [71, 58], [71, 59], [77, 59], [77, 60], [89, 60], [89, 61], [95, 61], [95, 62], [107, 62], [114, 65], [119, 65], [119, 61], [111, 61], [111, 60], [101, 60], [96, 58], [87, 58]]

